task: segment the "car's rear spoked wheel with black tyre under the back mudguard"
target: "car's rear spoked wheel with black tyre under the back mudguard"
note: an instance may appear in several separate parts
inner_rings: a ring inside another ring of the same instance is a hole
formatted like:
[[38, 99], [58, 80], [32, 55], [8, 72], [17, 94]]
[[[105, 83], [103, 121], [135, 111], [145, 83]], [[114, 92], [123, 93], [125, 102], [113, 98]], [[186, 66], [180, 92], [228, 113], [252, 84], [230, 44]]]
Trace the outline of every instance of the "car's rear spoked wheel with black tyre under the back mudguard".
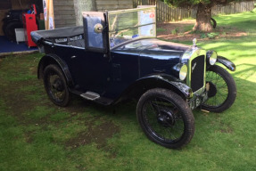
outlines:
[[44, 70], [45, 91], [54, 104], [67, 106], [70, 102], [70, 91], [66, 78], [56, 65], [48, 65]]

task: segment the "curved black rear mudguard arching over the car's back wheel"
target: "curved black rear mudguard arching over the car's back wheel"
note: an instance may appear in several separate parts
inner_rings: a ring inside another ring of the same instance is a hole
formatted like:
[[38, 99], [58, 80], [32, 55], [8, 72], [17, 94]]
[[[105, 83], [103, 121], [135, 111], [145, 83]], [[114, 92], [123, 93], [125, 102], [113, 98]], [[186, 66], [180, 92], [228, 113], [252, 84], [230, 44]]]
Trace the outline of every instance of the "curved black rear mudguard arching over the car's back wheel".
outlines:
[[49, 64], [57, 64], [62, 69], [62, 72], [64, 73], [68, 85], [72, 86], [74, 85], [74, 82], [72, 80], [70, 69], [65, 61], [62, 61], [62, 59], [55, 55], [55, 54], [47, 54], [42, 57], [42, 59], [38, 63], [37, 67], [37, 77], [38, 79], [43, 77], [44, 69]]

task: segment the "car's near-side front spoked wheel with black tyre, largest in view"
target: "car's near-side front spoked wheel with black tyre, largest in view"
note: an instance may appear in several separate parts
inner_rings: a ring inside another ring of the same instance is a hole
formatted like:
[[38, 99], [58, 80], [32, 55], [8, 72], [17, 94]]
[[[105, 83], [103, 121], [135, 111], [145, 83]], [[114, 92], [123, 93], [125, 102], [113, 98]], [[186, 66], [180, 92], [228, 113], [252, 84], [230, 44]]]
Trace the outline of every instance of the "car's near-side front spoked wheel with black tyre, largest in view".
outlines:
[[192, 111], [178, 94], [166, 89], [155, 88], [143, 94], [136, 116], [147, 137], [167, 148], [181, 148], [194, 135]]

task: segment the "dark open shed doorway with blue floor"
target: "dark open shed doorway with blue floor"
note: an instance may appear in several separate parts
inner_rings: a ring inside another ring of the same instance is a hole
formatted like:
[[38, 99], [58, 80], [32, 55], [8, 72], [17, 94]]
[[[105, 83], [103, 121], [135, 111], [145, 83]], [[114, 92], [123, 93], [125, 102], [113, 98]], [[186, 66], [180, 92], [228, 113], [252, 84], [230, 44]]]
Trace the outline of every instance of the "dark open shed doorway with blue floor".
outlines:
[[29, 46], [28, 41], [25, 43], [26, 31], [23, 29], [22, 15], [33, 12], [32, 4], [37, 10], [37, 29], [44, 29], [44, 16], [40, 18], [43, 12], [42, 0], [0, 0], [0, 56], [4, 53], [37, 50], [37, 46]]

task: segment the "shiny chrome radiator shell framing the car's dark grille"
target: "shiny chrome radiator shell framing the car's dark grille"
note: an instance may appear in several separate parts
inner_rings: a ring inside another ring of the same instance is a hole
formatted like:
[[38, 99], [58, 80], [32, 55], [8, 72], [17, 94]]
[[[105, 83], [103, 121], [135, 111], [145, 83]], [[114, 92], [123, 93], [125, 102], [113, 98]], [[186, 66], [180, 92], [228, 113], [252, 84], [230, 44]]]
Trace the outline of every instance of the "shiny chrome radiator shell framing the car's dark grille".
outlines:
[[186, 76], [186, 85], [191, 87], [191, 62], [198, 56], [204, 55], [204, 73], [203, 73], [203, 86], [194, 92], [194, 94], [202, 94], [205, 90], [205, 72], [206, 72], [206, 51], [199, 47], [191, 47], [183, 54], [180, 61], [181, 63], [185, 63], [187, 66], [187, 76]]

